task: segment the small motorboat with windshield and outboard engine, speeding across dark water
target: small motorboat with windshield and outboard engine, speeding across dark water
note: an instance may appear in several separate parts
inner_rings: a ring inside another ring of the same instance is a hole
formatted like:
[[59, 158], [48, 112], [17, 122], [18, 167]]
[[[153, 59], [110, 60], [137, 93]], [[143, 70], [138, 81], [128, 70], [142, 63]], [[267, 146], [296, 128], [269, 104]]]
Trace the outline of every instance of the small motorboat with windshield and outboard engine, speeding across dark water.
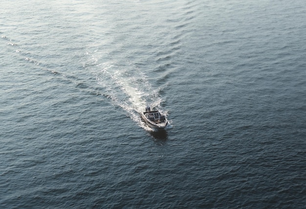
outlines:
[[147, 106], [145, 112], [141, 113], [141, 118], [155, 130], [163, 130], [168, 125], [166, 116], [159, 113], [158, 110], [152, 110], [150, 106]]

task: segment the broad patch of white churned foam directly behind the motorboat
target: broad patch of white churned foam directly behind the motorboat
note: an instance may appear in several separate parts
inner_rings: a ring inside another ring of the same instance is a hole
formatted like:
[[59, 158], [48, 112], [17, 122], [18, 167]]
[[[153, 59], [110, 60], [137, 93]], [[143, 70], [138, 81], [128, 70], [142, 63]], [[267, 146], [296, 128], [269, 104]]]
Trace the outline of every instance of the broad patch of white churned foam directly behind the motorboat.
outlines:
[[148, 76], [132, 63], [120, 63], [117, 60], [103, 62], [100, 56], [95, 55], [98, 54], [96, 51], [87, 54], [90, 72], [106, 91], [104, 95], [108, 95], [114, 105], [123, 108], [140, 127], [153, 131], [141, 120], [140, 113], [146, 105], [150, 105], [167, 115], [160, 105], [160, 89], [154, 89]]

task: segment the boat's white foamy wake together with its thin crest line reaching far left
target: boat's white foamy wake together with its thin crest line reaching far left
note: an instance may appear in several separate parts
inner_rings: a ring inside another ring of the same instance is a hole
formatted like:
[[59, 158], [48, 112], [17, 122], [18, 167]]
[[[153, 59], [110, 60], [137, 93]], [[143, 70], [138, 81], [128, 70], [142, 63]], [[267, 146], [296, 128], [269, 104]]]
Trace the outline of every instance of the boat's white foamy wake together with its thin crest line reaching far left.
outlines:
[[[3, 39], [11, 39], [2, 36]], [[42, 63], [35, 60], [34, 55], [27, 51], [22, 51], [22, 46], [13, 42], [8, 42], [8, 46], [14, 48], [16, 53], [26, 62], [33, 63], [35, 66], [40, 66], [42, 70], [48, 71], [52, 74], [59, 75], [65, 80], [70, 81], [80, 88], [90, 89], [91, 86], [87, 83], [79, 83], [79, 78], [75, 76], [67, 76], [66, 73], [55, 71], [53, 68], [48, 67], [48, 63]], [[16, 47], [18, 47], [16, 49]], [[112, 103], [121, 107], [127, 112], [127, 115], [135, 121], [140, 127], [147, 131], [153, 131], [148, 127], [140, 117], [141, 111], [144, 110], [146, 105], [150, 105], [159, 109], [163, 114], [167, 115], [160, 105], [162, 99], [159, 95], [159, 90], [150, 85], [148, 76], [146, 76], [140, 69], [135, 67], [132, 63], [119, 63], [116, 60], [103, 62], [104, 58], [99, 55], [98, 51], [87, 52], [89, 56], [83, 66], [89, 70], [97, 80], [102, 90], [97, 90], [103, 96], [111, 99]], [[82, 87], [83, 86], [83, 87]]]

